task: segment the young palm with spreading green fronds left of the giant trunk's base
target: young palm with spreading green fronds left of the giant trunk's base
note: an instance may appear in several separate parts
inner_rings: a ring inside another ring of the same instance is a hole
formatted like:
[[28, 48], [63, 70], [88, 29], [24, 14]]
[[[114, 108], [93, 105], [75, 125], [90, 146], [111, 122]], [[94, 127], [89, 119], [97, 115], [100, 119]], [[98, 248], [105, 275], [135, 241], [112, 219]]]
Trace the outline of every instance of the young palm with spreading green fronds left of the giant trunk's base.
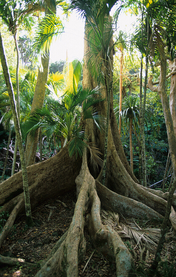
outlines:
[[[25, 135], [30, 132], [34, 135], [38, 128], [42, 128], [45, 135], [49, 138], [60, 138], [63, 136], [65, 141], [69, 142], [70, 156], [76, 153], [82, 156], [84, 147], [87, 146], [86, 135], [82, 129], [82, 124], [86, 119], [93, 119], [99, 130], [104, 128], [104, 117], [95, 112], [93, 105], [103, 101], [103, 99], [95, 98], [98, 89], [79, 89], [77, 93], [69, 92], [60, 99], [50, 100], [53, 102], [51, 112], [43, 107], [33, 112], [32, 116], [22, 124]], [[60, 103], [61, 102], [61, 103]], [[81, 116], [82, 107], [82, 116]]]

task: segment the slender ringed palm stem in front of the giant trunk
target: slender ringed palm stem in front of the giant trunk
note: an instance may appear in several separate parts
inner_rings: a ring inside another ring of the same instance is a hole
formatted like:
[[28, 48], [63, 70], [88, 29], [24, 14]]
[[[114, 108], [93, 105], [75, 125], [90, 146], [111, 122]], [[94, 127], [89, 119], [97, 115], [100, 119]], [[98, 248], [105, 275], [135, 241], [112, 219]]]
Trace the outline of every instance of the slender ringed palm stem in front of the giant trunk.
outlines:
[[108, 129], [109, 129], [109, 109], [110, 109], [110, 77], [109, 70], [106, 70], [107, 76], [107, 109], [106, 109], [106, 129], [105, 129], [105, 150], [102, 172], [102, 184], [105, 185], [106, 164], [107, 164], [107, 147], [108, 147]]

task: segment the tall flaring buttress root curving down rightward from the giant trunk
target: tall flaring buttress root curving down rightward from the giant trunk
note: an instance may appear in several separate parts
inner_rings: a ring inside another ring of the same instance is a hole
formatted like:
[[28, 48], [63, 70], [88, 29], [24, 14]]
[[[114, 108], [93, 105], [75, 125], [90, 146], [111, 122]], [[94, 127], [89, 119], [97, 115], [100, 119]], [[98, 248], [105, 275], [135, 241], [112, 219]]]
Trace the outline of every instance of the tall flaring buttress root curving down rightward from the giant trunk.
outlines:
[[[100, 179], [100, 177], [98, 179]], [[151, 193], [149, 190], [144, 189], [143, 186], [140, 186], [139, 184], [133, 181], [133, 179], [129, 176], [123, 164], [121, 163], [115, 145], [113, 144], [111, 132], [109, 132], [108, 134], [107, 179], [108, 188], [110, 188], [112, 191], [115, 191], [117, 194], [120, 194], [121, 196], [125, 196], [127, 198], [131, 198], [138, 201], [139, 206], [142, 206], [143, 203], [147, 207], [164, 216], [167, 201], [165, 201], [160, 196]], [[130, 205], [126, 206], [126, 208], [130, 209]], [[135, 212], [135, 208], [133, 208], [133, 212]], [[173, 216], [170, 217], [170, 220], [173, 228], [175, 229], [176, 216], [174, 215], [174, 209], [172, 214]]]

